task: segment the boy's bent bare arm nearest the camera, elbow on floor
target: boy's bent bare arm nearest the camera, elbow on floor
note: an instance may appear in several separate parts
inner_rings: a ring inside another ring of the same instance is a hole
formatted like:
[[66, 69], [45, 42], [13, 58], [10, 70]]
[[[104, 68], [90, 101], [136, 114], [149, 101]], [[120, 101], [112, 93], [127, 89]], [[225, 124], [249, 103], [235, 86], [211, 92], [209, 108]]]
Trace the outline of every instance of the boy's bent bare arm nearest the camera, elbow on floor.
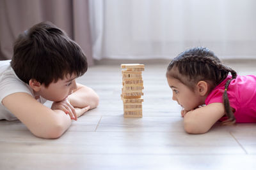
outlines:
[[10, 94], [4, 97], [2, 103], [40, 138], [59, 138], [71, 124], [69, 115], [47, 108], [24, 92]]

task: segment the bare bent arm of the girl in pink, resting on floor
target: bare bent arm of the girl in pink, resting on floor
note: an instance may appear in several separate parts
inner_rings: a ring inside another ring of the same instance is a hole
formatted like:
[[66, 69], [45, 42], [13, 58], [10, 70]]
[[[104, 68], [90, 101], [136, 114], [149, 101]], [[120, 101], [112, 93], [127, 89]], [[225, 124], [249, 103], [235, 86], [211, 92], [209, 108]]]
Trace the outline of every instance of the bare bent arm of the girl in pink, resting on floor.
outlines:
[[207, 106], [188, 111], [184, 115], [184, 129], [190, 134], [202, 134], [225, 115], [223, 103], [211, 103]]

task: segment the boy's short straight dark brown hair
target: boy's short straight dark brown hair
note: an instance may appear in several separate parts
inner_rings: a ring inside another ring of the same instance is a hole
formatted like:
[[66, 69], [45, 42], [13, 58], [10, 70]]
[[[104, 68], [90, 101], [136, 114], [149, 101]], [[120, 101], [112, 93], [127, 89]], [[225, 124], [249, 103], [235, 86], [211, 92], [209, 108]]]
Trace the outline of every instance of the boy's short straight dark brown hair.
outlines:
[[67, 74], [82, 76], [88, 68], [80, 46], [51, 22], [40, 22], [19, 35], [11, 66], [20, 80], [29, 84], [35, 79], [45, 87]]

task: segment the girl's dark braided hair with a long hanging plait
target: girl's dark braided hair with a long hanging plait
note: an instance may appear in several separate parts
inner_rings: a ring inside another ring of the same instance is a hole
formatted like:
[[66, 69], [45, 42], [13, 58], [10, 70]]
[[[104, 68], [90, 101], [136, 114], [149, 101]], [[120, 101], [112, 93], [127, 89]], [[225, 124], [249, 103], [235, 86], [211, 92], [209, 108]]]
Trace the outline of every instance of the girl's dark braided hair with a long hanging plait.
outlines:
[[[232, 74], [232, 79], [237, 76], [236, 71], [223, 65], [220, 59], [209, 49], [196, 47], [186, 50], [175, 57], [168, 66], [166, 76], [177, 78], [191, 90], [195, 89], [198, 81], [207, 81], [210, 85], [210, 90], [212, 90], [227, 78], [228, 73]], [[223, 93], [223, 104], [228, 117], [223, 124], [234, 124], [236, 122], [227, 95], [228, 85], [232, 79], [225, 84]]]

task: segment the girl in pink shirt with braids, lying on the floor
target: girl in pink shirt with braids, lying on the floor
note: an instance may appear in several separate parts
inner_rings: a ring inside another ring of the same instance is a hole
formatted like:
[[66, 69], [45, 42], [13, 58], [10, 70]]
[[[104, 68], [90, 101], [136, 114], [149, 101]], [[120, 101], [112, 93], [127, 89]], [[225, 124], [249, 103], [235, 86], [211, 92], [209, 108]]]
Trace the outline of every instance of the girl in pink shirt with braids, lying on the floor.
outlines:
[[207, 48], [180, 53], [170, 62], [166, 77], [172, 99], [184, 108], [186, 132], [205, 133], [218, 120], [256, 122], [256, 76], [237, 76]]

